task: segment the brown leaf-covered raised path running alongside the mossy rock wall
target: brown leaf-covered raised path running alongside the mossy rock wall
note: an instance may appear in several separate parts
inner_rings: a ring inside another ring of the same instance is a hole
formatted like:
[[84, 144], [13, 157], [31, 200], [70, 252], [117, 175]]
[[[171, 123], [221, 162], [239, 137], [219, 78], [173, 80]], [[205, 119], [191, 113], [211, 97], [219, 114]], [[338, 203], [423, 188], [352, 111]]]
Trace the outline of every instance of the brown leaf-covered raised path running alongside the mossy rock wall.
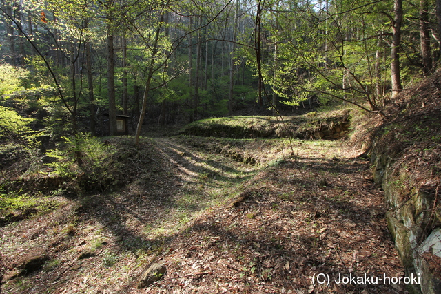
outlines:
[[[263, 168], [238, 196], [192, 221], [156, 259], [167, 277], [149, 293], [405, 293], [370, 280], [336, 283], [403, 273], [369, 162], [345, 158], [338, 143], [320, 144], [294, 143], [297, 156]], [[320, 273], [329, 286], [314, 286]]]

